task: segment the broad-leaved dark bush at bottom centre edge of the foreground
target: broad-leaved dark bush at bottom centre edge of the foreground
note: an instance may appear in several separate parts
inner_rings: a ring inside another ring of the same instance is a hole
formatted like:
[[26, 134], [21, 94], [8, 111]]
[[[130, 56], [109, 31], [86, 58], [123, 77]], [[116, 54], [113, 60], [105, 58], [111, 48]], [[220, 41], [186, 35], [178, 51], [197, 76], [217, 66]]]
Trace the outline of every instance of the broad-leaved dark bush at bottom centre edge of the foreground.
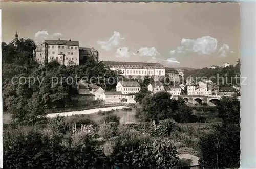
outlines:
[[118, 143], [114, 147], [114, 166], [122, 168], [176, 168], [179, 163], [177, 151], [169, 139], [156, 139], [153, 142]]

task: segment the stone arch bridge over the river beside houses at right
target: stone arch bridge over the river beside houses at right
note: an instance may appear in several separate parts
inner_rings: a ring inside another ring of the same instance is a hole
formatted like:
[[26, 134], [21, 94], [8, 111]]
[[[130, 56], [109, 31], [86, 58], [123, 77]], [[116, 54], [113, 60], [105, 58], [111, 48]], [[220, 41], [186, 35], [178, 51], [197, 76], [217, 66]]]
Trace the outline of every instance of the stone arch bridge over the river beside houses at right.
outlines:
[[186, 95], [182, 97], [184, 101], [192, 104], [207, 103], [209, 106], [216, 106], [220, 101], [219, 95]]

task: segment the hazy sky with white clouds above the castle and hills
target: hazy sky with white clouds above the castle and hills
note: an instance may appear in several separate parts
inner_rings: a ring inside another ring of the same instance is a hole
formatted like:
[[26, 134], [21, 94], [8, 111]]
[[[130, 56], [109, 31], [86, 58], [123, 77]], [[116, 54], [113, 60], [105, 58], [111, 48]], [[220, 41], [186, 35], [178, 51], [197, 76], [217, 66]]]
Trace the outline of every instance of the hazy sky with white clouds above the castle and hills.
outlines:
[[238, 3], [2, 2], [2, 40], [79, 41], [99, 60], [203, 68], [240, 58]]

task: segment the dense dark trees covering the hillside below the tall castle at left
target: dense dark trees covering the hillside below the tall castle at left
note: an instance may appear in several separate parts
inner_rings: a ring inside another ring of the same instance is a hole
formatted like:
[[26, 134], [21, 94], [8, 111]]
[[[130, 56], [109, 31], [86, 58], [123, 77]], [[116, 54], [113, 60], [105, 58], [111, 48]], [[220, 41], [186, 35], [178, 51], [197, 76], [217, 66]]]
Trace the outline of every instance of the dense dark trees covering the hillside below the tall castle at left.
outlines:
[[110, 70], [93, 59], [80, 66], [63, 66], [57, 61], [39, 65], [33, 55], [35, 43], [31, 39], [19, 40], [17, 46], [2, 43], [4, 109], [16, 121], [34, 123], [45, 109], [77, 106], [72, 98], [77, 95], [77, 84], [82, 77], [106, 91], [115, 90], [117, 80], [122, 77], [120, 71]]

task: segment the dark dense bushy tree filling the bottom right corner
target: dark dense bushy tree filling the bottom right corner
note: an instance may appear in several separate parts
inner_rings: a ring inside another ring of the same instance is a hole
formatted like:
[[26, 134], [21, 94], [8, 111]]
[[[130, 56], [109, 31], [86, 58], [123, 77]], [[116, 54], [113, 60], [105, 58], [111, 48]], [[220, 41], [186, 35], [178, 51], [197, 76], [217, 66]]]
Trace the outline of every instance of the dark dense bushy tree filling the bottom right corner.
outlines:
[[240, 126], [224, 125], [200, 137], [200, 168], [239, 168]]

